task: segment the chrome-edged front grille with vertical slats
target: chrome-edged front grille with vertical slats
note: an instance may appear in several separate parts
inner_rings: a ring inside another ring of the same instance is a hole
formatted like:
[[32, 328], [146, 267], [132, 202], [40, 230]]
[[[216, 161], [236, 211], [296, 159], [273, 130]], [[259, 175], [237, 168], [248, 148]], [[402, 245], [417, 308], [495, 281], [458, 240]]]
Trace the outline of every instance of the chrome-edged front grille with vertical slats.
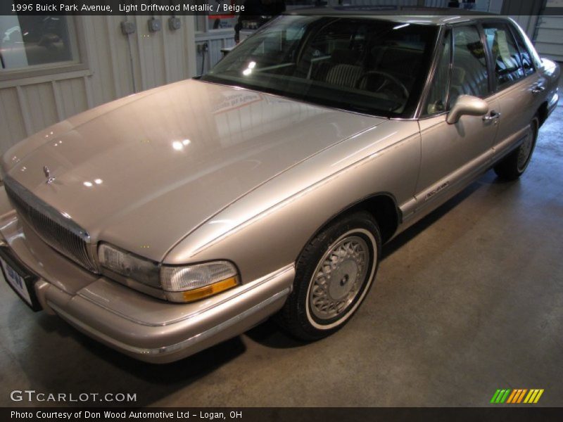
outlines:
[[87, 231], [8, 175], [4, 186], [15, 210], [45, 243], [89, 271], [98, 272]]

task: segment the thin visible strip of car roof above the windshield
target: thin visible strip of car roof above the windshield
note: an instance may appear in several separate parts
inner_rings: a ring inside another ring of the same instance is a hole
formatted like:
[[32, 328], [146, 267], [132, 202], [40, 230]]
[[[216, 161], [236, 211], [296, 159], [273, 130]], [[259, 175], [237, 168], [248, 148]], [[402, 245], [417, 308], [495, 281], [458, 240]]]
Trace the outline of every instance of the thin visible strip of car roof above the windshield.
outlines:
[[446, 25], [482, 18], [500, 18], [499, 15], [462, 8], [429, 8], [416, 6], [332, 6], [294, 9], [286, 15], [354, 16], [390, 20], [398, 23]]

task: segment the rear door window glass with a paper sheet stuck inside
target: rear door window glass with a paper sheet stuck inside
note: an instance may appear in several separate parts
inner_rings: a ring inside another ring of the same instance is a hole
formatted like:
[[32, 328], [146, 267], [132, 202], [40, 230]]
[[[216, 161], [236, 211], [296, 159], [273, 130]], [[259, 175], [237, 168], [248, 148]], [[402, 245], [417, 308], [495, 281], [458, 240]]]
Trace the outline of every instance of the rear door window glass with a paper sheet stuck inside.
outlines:
[[500, 89], [524, 77], [520, 53], [507, 25], [498, 23], [483, 25], [483, 28], [493, 56], [497, 87]]

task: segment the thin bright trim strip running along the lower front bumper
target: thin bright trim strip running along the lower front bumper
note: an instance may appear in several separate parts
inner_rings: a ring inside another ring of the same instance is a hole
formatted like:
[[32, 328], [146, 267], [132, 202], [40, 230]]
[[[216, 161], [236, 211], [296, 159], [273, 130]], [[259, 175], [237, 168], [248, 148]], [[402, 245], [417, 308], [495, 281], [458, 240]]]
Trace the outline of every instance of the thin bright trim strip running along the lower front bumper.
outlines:
[[206, 339], [212, 337], [213, 335], [219, 333], [220, 331], [224, 331], [227, 328], [234, 326], [234, 324], [236, 324], [239, 321], [245, 319], [247, 316], [251, 316], [255, 312], [258, 312], [260, 309], [267, 307], [267, 305], [272, 304], [273, 302], [275, 302], [279, 298], [283, 298], [285, 295], [288, 295], [289, 290], [290, 290], [290, 288], [285, 288], [284, 290], [281, 290], [280, 292], [275, 293], [270, 298], [267, 298], [266, 300], [258, 303], [258, 305], [254, 305], [253, 307], [246, 309], [246, 311], [241, 312], [240, 314], [238, 314], [236, 316], [233, 316], [231, 319], [227, 319], [227, 321], [224, 321], [221, 324], [214, 326], [213, 328], [209, 328], [208, 330], [203, 331], [203, 333], [192, 335], [190, 338], [186, 338], [186, 340], [183, 340], [179, 343], [175, 343], [175, 344], [170, 345], [170, 346], [155, 347], [155, 348], [152, 348], [152, 349], [149, 349], [149, 348], [146, 348], [146, 347], [137, 347], [137, 346], [128, 345], [126, 343], [122, 343], [119, 340], [115, 340], [114, 338], [110, 338], [110, 336], [108, 336], [104, 333], [101, 333], [100, 331], [96, 330], [95, 328], [92, 328], [91, 326], [89, 326], [87, 324], [84, 324], [82, 321], [76, 319], [74, 316], [72, 316], [72, 315], [68, 314], [67, 312], [63, 311], [63, 309], [54, 305], [52, 302], [48, 301], [47, 303], [48, 303], [49, 307], [51, 307], [51, 309], [53, 309], [63, 319], [66, 319], [71, 324], [74, 324], [75, 326], [82, 328], [82, 330], [86, 331], [87, 333], [90, 333], [94, 337], [100, 338], [101, 340], [105, 341], [106, 343], [109, 343], [110, 345], [114, 345], [118, 349], [127, 350], [127, 352], [132, 352], [134, 354], [155, 355], [155, 354], [168, 354], [168, 353], [172, 353], [172, 352], [177, 352], [178, 350], [186, 349], [187, 347], [193, 346], [196, 343], [199, 343], [203, 340], [206, 340]]

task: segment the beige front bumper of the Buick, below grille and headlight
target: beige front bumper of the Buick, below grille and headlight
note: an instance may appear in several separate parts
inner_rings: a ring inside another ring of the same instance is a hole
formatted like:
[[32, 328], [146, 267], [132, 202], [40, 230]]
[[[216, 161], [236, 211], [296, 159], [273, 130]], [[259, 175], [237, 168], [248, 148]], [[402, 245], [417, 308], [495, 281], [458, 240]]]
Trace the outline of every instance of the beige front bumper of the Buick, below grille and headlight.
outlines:
[[212, 298], [174, 304], [94, 276], [36, 237], [15, 212], [0, 217], [0, 243], [39, 277], [43, 309], [146, 362], [173, 362], [247, 331], [281, 309], [295, 276], [289, 264]]

